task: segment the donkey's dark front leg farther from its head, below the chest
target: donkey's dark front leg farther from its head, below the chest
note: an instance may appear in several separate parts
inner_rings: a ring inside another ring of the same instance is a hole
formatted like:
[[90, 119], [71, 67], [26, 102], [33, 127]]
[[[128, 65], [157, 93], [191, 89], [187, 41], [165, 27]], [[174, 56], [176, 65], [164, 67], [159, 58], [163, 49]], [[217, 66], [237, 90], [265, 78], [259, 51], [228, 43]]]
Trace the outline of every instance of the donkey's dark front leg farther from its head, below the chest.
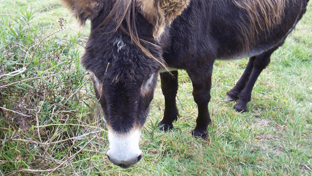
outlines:
[[[201, 73], [188, 73], [189, 77], [192, 80], [193, 97], [198, 108], [196, 127], [193, 130], [192, 135], [196, 137], [201, 137], [202, 139], [207, 138], [207, 127], [211, 123], [208, 111], [208, 103], [210, 101], [212, 66], [213, 62], [208, 63], [206, 69], [202, 70]], [[207, 74], [202, 75], [202, 73]]]

